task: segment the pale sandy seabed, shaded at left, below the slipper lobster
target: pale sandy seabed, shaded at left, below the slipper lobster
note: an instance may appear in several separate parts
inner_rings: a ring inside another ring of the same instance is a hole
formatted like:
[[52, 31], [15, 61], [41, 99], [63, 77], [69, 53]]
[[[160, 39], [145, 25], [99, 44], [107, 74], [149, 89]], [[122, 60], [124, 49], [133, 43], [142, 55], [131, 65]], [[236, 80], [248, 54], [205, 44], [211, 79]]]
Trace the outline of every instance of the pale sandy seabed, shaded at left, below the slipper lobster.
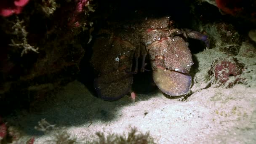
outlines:
[[[248, 46], [243, 43], [240, 51]], [[205, 80], [205, 76], [215, 59], [227, 55], [216, 48], [195, 54], [197, 72], [193, 76], [192, 94], [186, 100], [155, 91], [137, 95], [135, 103], [129, 96], [119, 101], [103, 101], [93, 96], [85, 85], [74, 81], [61, 88], [53, 100], [38, 105], [40, 111], [23, 112], [7, 119], [20, 125], [24, 139], [35, 136], [35, 144], [53, 139], [54, 130], [42, 135], [34, 129], [43, 118], [56, 127], [64, 127], [81, 143], [97, 138], [98, 131], [123, 134], [136, 127], [142, 133], [149, 131], [159, 144], [255, 144], [256, 54], [253, 55], [235, 56], [245, 64], [241, 77], [246, 78], [246, 83], [226, 88], [214, 76], [210, 80]], [[209, 83], [211, 86], [206, 88]]]

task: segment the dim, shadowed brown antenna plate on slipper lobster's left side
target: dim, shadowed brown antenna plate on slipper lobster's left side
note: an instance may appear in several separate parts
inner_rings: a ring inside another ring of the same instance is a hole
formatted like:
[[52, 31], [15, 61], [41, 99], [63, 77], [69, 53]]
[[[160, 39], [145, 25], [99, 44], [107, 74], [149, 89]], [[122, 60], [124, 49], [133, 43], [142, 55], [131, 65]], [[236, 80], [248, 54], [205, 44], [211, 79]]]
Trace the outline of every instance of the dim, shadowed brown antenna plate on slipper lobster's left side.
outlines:
[[135, 50], [132, 43], [120, 37], [96, 39], [91, 63], [99, 73], [94, 81], [94, 88], [99, 97], [114, 101], [130, 91], [133, 75], [129, 72], [132, 69]]

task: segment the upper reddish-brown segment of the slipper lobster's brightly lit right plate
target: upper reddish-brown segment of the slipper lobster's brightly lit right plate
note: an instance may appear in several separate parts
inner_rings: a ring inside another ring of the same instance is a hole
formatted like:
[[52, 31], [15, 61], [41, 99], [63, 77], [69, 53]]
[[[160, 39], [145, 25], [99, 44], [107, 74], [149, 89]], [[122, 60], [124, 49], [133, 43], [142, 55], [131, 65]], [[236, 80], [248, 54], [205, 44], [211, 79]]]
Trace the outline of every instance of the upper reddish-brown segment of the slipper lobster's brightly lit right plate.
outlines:
[[[191, 52], [182, 37], [176, 36], [156, 41], [149, 45], [150, 59], [156, 61], [163, 59], [161, 67], [169, 70], [188, 73], [193, 61]], [[157, 66], [152, 63], [154, 69]]]

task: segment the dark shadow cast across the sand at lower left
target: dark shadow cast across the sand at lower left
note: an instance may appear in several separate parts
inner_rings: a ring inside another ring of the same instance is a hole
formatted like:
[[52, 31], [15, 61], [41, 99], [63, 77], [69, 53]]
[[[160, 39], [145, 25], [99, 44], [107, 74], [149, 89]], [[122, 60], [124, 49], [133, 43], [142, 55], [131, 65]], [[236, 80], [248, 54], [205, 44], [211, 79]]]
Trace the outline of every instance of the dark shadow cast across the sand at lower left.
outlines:
[[[136, 102], [147, 101], [154, 97], [157, 91], [138, 94]], [[49, 96], [47, 101], [40, 101], [28, 111], [17, 110], [5, 117], [10, 125], [21, 128], [28, 135], [43, 135], [35, 130], [41, 119], [56, 125], [56, 127], [80, 126], [101, 121], [107, 123], [118, 119], [122, 107], [132, 105], [131, 96], [124, 96], [118, 101], [104, 101], [97, 98], [82, 83], [74, 81]]]

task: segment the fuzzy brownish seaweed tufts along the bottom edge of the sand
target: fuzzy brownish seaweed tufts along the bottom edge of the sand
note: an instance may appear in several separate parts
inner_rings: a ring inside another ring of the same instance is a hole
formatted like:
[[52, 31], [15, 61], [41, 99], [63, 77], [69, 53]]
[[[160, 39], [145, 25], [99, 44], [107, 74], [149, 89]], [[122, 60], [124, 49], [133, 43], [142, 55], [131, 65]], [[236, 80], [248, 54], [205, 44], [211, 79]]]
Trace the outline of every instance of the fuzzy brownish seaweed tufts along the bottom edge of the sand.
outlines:
[[[76, 138], [72, 138], [70, 133], [65, 131], [65, 128], [55, 127], [51, 125], [45, 119], [38, 122], [38, 126], [35, 126], [38, 131], [43, 131], [44, 134], [51, 133], [54, 131], [53, 138], [45, 141], [47, 144], [77, 144]], [[85, 144], [155, 144], [154, 139], [147, 133], [139, 133], [136, 128], [131, 128], [128, 135], [118, 135], [118, 134], [107, 134], [107, 136], [102, 132], [96, 132], [98, 138], [93, 140], [87, 140], [87, 137], [83, 139]], [[33, 139], [33, 138], [32, 138]], [[30, 141], [30, 140], [29, 140]], [[33, 140], [34, 141], [34, 140]]]

